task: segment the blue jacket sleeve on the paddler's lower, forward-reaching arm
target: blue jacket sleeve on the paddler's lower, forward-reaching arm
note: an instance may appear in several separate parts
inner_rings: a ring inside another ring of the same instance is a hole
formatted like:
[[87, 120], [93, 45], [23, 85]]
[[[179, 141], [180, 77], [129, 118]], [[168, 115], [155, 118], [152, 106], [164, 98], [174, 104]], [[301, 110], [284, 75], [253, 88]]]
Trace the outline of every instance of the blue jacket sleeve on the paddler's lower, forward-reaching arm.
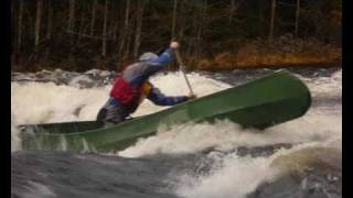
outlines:
[[168, 97], [160, 92], [158, 88], [152, 88], [147, 96], [149, 100], [158, 106], [175, 106], [188, 100], [186, 96]]

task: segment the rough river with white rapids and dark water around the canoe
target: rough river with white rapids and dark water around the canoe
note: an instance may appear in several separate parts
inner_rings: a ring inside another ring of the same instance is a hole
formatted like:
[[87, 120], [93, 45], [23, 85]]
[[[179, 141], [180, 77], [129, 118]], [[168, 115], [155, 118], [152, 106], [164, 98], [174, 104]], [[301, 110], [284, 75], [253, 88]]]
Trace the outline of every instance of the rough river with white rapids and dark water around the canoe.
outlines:
[[[227, 120], [186, 123], [117, 153], [23, 151], [19, 124], [93, 120], [116, 73], [56, 69], [11, 77], [13, 197], [342, 197], [342, 70], [288, 68], [310, 89], [303, 117], [258, 133]], [[274, 69], [188, 74], [206, 96]], [[188, 94], [183, 76], [151, 82], [165, 95]], [[132, 117], [165, 107], [143, 101]]]

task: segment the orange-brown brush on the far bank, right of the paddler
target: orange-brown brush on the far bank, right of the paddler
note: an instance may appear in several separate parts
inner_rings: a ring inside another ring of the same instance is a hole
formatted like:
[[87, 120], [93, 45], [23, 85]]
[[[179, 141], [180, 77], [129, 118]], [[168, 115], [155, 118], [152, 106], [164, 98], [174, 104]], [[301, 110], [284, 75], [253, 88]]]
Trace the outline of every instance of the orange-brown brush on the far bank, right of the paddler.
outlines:
[[341, 48], [320, 43], [284, 35], [272, 43], [253, 41], [245, 44], [236, 53], [220, 53], [213, 58], [194, 63], [202, 70], [233, 70], [250, 68], [277, 67], [340, 67]]

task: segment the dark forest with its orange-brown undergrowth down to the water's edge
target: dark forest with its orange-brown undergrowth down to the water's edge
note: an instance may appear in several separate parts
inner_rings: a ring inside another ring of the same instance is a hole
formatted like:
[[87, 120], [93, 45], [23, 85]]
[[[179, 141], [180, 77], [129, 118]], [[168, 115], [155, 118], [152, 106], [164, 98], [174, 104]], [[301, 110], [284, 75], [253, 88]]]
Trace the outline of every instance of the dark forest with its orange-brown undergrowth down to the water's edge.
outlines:
[[171, 40], [180, 42], [189, 70], [339, 66], [341, 6], [341, 0], [13, 0], [12, 70], [120, 70]]

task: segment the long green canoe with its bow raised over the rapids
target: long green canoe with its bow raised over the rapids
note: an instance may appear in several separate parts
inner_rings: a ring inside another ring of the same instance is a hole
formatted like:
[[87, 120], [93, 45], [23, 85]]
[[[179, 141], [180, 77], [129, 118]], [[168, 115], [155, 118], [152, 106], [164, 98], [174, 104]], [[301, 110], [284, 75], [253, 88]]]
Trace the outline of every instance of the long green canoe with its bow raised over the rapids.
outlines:
[[[265, 129], [303, 116], [311, 103], [307, 86], [281, 70], [238, 87], [186, 101], [109, 128], [95, 121], [22, 127], [23, 150], [109, 152], [153, 135], [160, 125], [228, 119]], [[215, 131], [216, 133], [216, 131]]]

